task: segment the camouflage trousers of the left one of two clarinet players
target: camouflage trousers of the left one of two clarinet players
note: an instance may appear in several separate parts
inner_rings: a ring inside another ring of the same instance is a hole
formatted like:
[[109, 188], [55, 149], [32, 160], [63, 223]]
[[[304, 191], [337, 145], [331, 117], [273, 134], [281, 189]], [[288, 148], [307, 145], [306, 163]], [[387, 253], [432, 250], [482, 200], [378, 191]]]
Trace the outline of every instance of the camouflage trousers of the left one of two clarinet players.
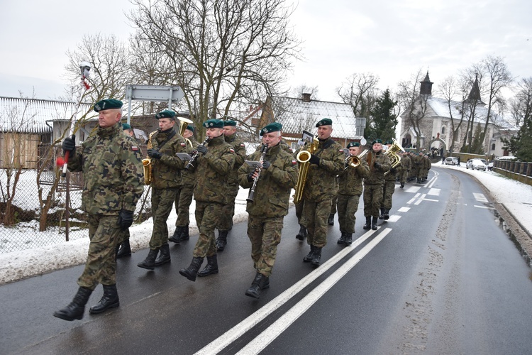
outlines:
[[196, 224], [199, 237], [192, 253], [194, 257], [204, 258], [216, 254], [214, 229], [218, 225], [222, 208], [222, 204], [196, 201]]

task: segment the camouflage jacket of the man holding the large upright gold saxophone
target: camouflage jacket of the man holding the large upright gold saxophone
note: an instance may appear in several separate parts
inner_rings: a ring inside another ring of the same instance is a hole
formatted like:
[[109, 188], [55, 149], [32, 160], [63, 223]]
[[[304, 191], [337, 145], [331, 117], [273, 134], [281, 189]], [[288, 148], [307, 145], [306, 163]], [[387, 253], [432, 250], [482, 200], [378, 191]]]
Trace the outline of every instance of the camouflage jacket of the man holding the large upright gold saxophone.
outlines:
[[309, 163], [303, 200], [311, 202], [329, 200], [338, 192], [336, 175], [343, 172], [345, 154], [340, 144], [328, 138], [326, 141], [320, 141], [318, 151], [314, 155], [320, 158], [320, 163], [319, 165]]

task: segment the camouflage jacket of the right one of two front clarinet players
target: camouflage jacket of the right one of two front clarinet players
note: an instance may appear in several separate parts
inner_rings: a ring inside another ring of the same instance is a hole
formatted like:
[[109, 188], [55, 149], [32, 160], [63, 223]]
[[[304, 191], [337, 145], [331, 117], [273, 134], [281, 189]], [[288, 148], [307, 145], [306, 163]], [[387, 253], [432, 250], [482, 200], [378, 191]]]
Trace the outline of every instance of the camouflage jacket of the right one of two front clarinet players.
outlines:
[[[260, 151], [256, 151], [250, 155], [250, 160], [259, 160], [260, 154]], [[249, 214], [265, 218], [286, 216], [290, 192], [297, 180], [297, 160], [284, 151], [280, 144], [268, 148], [264, 160], [271, 165], [261, 170], [255, 187], [254, 202], [248, 202], [245, 210]], [[248, 181], [248, 174], [252, 169], [248, 164], [243, 164], [238, 169], [238, 182], [246, 189], [253, 186], [253, 181]]]

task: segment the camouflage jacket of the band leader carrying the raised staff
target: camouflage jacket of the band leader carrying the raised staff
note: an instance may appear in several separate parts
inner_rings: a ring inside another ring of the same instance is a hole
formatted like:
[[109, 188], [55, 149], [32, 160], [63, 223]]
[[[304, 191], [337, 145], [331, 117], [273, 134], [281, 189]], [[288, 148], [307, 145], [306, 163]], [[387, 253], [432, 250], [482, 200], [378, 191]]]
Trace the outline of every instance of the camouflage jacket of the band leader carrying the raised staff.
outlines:
[[121, 124], [89, 136], [70, 157], [68, 170], [83, 172], [82, 209], [89, 214], [135, 211], [144, 191], [140, 149]]

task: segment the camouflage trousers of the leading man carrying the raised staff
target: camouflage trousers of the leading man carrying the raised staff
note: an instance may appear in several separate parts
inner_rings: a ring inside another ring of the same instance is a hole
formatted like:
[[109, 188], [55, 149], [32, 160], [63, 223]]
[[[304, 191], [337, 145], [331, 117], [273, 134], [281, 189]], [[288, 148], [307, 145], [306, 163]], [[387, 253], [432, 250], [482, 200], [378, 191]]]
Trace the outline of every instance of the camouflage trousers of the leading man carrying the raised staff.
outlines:
[[124, 237], [118, 227], [118, 215], [89, 214], [89, 253], [83, 273], [77, 279], [82, 288], [94, 290], [96, 286], [116, 283], [115, 249]]

